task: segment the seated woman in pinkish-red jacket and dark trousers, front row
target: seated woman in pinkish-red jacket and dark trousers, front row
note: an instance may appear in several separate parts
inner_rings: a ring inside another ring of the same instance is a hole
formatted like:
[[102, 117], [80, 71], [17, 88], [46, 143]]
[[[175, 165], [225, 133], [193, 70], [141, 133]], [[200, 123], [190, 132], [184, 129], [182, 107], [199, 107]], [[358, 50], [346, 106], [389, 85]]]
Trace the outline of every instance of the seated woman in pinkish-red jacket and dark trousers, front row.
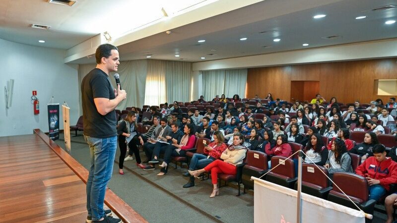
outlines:
[[164, 161], [159, 166], [162, 167], [158, 176], [162, 176], [168, 171], [168, 164], [170, 163], [171, 157], [184, 157], [186, 156], [186, 150], [192, 149], [196, 144], [195, 126], [194, 124], [186, 124], [183, 130], [185, 133], [182, 136], [179, 144], [168, 145], [164, 153]]

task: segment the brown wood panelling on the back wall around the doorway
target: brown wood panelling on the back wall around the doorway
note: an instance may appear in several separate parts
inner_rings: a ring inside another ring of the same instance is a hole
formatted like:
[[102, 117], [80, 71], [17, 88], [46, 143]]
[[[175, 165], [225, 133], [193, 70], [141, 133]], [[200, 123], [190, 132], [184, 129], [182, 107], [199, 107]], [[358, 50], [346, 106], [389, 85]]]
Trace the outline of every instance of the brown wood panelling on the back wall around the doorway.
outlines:
[[273, 98], [289, 100], [290, 81], [320, 81], [319, 93], [327, 100], [336, 97], [342, 103], [369, 103], [381, 98], [388, 102], [389, 96], [374, 93], [374, 81], [396, 78], [397, 58], [250, 68], [247, 97], [258, 94], [264, 98], [270, 92]]

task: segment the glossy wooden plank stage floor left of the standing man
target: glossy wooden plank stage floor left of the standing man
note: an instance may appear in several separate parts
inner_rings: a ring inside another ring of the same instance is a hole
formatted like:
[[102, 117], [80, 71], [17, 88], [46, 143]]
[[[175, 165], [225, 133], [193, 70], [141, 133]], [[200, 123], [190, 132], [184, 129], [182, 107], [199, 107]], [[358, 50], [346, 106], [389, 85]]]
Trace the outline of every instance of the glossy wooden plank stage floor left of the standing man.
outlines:
[[84, 223], [85, 184], [36, 134], [0, 138], [0, 222]]

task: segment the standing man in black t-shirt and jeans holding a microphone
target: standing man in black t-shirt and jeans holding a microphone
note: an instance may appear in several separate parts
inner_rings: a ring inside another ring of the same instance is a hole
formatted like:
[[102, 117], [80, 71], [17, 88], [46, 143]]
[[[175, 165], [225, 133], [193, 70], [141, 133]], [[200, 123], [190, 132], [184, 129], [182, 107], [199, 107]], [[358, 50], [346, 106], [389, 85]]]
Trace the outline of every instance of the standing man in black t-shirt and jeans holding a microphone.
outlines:
[[116, 106], [127, 98], [118, 84], [113, 89], [109, 73], [117, 71], [117, 47], [103, 44], [95, 52], [96, 67], [81, 82], [84, 139], [90, 147], [91, 167], [87, 179], [87, 223], [120, 223], [103, 210], [106, 185], [112, 177], [117, 148]]

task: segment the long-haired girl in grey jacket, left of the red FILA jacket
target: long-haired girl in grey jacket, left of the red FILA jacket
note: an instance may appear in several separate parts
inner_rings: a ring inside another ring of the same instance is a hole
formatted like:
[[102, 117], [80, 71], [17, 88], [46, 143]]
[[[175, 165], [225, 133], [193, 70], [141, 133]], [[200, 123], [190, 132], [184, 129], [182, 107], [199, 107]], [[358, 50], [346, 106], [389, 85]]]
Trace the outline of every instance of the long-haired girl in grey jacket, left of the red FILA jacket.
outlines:
[[324, 167], [328, 169], [330, 175], [335, 172], [353, 172], [351, 158], [342, 139], [335, 138], [332, 140], [331, 151]]

